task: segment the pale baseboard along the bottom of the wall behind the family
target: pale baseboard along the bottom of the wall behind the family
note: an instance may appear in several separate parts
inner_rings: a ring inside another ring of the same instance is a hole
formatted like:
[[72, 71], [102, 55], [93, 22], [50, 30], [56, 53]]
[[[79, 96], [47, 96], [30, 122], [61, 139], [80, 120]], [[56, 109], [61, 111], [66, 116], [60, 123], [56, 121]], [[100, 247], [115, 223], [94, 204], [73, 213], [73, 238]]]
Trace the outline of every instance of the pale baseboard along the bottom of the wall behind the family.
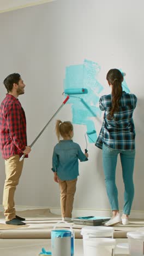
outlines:
[[[61, 208], [48, 206], [15, 206], [16, 211], [36, 210], [36, 209], [50, 209], [51, 213], [61, 215]], [[0, 205], [0, 211], [3, 211], [3, 206]], [[119, 211], [122, 214], [122, 211]], [[73, 216], [100, 216], [111, 217], [111, 210], [104, 209], [73, 209]], [[144, 219], [144, 211], [131, 211], [130, 218]]]

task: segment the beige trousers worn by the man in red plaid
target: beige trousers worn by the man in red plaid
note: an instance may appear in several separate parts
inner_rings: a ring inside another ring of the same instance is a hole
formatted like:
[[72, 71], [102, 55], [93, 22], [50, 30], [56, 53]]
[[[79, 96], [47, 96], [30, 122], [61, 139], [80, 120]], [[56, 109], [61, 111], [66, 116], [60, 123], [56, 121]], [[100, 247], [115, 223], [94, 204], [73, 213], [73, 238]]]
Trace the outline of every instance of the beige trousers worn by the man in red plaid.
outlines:
[[15, 218], [15, 202], [14, 194], [17, 184], [22, 172], [23, 160], [20, 162], [19, 155], [13, 155], [9, 159], [5, 160], [5, 174], [6, 179], [3, 190], [3, 207], [5, 220], [11, 220]]

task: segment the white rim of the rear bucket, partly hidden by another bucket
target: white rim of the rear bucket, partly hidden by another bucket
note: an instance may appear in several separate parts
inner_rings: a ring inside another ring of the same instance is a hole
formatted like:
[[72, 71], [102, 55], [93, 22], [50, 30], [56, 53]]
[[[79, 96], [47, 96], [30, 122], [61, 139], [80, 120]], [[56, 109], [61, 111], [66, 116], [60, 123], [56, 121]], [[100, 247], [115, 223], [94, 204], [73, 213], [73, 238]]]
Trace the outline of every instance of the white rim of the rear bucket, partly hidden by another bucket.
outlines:
[[113, 228], [111, 226], [84, 226], [81, 235], [112, 236]]

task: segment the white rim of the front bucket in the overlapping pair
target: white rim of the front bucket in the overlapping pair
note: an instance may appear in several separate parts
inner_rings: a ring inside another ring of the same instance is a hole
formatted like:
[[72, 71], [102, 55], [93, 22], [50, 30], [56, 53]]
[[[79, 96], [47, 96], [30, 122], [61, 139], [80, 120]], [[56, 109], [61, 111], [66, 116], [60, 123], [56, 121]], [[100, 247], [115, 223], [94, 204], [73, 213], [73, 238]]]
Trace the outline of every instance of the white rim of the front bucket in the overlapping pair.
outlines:
[[89, 246], [116, 246], [116, 240], [107, 237], [91, 237], [85, 239], [85, 245]]

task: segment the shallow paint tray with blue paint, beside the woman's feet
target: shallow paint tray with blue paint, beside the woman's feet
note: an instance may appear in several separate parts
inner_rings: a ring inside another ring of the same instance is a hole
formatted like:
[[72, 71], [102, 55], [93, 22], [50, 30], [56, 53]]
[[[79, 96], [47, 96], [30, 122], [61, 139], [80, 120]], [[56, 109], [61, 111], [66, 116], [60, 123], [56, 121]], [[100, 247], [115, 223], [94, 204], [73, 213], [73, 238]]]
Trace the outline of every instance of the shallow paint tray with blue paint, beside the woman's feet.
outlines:
[[71, 220], [77, 225], [100, 226], [103, 224], [103, 222], [107, 222], [108, 220], [110, 220], [110, 218], [87, 216], [72, 218]]

